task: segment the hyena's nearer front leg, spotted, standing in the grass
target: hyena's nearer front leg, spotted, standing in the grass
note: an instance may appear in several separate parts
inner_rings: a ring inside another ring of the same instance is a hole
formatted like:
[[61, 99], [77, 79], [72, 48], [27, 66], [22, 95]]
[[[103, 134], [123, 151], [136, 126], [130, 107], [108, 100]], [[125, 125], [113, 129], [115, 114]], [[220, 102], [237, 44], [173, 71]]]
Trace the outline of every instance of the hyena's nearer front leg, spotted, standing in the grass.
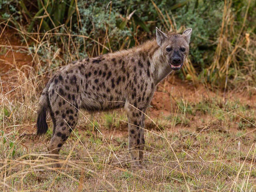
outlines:
[[[127, 109], [128, 121], [129, 121], [129, 150], [132, 156], [132, 167], [138, 168], [140, 167], [140, 149], [143, 145], [141, 138], [141, 121], [142, 121], [142, 113], [132, 107], [129, 106]], [[143, 136], [144, 137], [144, 136]], [[143, 157], [143, 154], [141, 154]]]

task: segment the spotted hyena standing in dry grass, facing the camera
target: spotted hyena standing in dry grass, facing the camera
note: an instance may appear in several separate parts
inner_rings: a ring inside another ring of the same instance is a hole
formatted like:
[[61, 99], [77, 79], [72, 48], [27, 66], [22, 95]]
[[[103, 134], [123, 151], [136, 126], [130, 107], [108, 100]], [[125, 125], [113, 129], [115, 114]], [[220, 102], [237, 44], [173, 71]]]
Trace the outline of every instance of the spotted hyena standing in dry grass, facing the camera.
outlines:
[[57, 158], [75, 129], [78, 110], [99, 112], [124, 107], [129, 121], [132, 165], [143, 166], [144, 113], [156, 85], [182, 67], [191, 31], [190, 28], [182, 35], [165, 34], [156, 28], [155, 40], [61, 68], [42, 92], [37, 119], [37, 134], [41, 135], [48, 129], [46, 111], [52, 117], [53, 133], [47, 147], [52, 157]]

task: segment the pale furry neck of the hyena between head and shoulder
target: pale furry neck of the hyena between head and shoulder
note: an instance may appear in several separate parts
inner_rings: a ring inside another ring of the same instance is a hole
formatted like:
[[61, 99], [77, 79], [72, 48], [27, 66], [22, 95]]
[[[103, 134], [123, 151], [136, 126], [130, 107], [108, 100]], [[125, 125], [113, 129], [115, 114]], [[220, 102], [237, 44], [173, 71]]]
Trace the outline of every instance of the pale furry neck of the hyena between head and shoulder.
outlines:
[[162, 49], [155, 41], [152, 41], [151, 47], [148, 50], [151, 70], [154, 73], [155, 84], [161, 82], [166, 76], [172, 72], [172, 68], [166, 60], [164, 60]]

